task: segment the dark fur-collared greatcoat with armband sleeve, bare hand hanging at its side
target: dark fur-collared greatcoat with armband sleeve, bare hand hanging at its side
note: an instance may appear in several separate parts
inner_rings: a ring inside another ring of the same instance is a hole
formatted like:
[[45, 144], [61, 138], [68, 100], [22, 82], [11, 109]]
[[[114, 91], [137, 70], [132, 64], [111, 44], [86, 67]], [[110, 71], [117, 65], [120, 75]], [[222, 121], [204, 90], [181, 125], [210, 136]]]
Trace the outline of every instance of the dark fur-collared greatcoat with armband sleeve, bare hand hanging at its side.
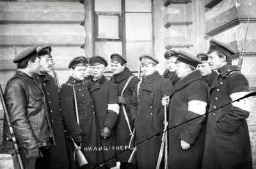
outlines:
[[[188, 110], [188, 103], [192, 100], [207, 103], [207, 86], [198, 70], [192, 71], [173, 86], [169, 105], [169, 128], [200, 115]], [[168, 168], [200, 168], [204, 152], [204, 133], [201, 131], [204, 119], [199, 117], [168, 132]], [[191, 147], [184, 151], [180, 140], [188, 142]]]

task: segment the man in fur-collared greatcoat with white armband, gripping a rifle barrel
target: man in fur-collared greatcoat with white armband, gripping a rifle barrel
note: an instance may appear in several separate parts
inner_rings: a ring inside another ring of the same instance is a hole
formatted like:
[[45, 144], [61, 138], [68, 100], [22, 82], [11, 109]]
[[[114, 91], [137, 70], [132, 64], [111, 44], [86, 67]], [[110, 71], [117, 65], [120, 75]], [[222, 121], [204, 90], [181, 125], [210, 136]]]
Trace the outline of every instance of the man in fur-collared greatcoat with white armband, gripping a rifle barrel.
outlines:
[[[200, 59], [179, 51], [175, 63], [177, 64], [175, 73], [180, 81], [173, 86], [170, 94], [169, 128], [205, 114], [207, 106], [207, 86], [200, 71], [196, 70], [196, 66], [202, 63]], [[166, 98], [163, 98], [163, 101]], [[163, 105], [167, 105], [166, 102]], [[204, 116], [198, 117], [168, 132], [168, 168], [201, 167], [204, 152], [204, 134], [201, 128], [204, 120]]]

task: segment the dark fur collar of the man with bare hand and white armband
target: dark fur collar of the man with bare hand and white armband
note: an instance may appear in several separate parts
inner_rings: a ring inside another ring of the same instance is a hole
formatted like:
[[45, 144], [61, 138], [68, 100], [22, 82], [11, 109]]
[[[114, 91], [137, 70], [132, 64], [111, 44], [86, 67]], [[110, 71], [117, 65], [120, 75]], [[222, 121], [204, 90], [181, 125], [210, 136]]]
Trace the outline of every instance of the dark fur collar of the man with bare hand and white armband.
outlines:
[[192, 71], [191, 73], [189, 73], [189, 75], [179, 80], [179, 82], [177, 82], [173, 86], [170, 96], [175, 94], [175, 92], [178, 92], [180, 89], [183, 89], [187, 85], [191, 84], [192, 82], [195, 82], [196, 80], [203, 80], [199, 70]]

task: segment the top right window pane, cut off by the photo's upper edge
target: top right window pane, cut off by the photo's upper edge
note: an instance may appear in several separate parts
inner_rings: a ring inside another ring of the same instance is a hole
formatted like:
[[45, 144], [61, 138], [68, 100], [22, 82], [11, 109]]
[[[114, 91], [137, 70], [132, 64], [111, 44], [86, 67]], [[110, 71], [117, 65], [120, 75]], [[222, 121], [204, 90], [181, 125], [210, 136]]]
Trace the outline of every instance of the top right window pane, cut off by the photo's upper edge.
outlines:
[[151, 12], [151, 0], [126, 0], [125, 11]]

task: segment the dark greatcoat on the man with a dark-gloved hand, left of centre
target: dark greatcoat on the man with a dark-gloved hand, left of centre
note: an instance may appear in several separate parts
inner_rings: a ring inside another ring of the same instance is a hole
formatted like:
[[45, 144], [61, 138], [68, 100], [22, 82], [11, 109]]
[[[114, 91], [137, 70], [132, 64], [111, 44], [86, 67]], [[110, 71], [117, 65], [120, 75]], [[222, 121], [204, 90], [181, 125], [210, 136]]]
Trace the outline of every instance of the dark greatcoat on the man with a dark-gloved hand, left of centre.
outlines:
[[[111, 135], [106, 139], [100, 136], [100, 143], [102, 146], [105, 161], [116, 155], [115, 144], [115, 124], [118, 114], [112, 110], [108, 110], [108, 104], [118, 104], [118, 87], [113, 82], [110, 82], [104, 76], [99, 80], [88, 82], [88, 89], [92, 97], [93, 105], [95, 108], [96, 122], [98, 126], [97, 135], [100, 133], [104, 126], [111, 129]], [[102, 161], [103, 162], [103, 161]], [[106, 163], [107, 167], [116, 166], [116, 159], [113, 158]]]

